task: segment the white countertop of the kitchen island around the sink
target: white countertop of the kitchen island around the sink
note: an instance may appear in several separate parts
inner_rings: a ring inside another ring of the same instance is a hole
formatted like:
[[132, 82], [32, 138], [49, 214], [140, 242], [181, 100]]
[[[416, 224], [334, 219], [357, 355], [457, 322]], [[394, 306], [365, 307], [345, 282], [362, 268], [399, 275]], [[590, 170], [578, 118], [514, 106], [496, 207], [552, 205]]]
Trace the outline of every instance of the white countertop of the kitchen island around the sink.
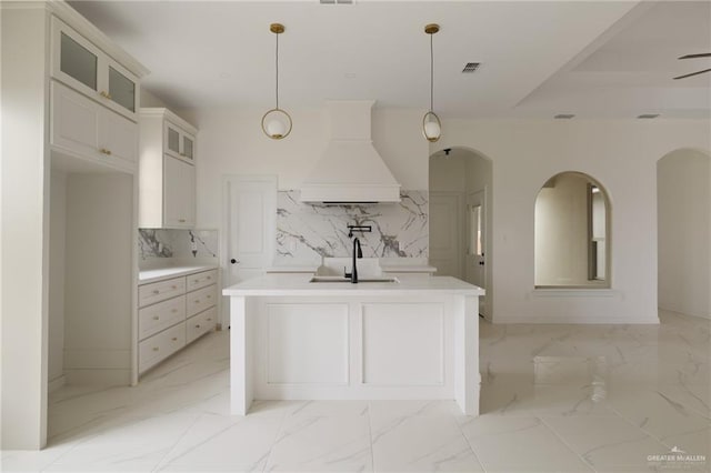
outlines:
[[312, 273], [273, 273], [222, 290], [223, 295], [408, 295], [428, 293], [483, 295], [484, 290], [451, 276], [397, 279], [397, 282], [309, 282]]

